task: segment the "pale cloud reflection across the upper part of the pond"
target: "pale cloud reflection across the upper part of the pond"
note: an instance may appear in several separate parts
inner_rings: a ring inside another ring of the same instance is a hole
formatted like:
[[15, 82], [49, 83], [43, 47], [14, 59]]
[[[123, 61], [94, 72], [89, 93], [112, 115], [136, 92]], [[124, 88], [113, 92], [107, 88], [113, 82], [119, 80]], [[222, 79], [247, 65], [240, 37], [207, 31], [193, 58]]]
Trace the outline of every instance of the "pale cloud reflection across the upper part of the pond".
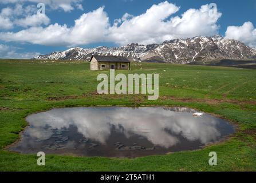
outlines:
[[180, 142], [179, 136], [202, 144], [217, 140], [222, 134], [218, 125], [222, 120], [204, 114], [193, 117], [187, 108], [64, 108], [32, 114], [27, 117], [32, 138], [47, 140], [54, 129], [76, 126], [84, 137], [106, 144], [111, 126], [125, 137], [134, 134], [147, 138], [153, 145], [170, 148]]

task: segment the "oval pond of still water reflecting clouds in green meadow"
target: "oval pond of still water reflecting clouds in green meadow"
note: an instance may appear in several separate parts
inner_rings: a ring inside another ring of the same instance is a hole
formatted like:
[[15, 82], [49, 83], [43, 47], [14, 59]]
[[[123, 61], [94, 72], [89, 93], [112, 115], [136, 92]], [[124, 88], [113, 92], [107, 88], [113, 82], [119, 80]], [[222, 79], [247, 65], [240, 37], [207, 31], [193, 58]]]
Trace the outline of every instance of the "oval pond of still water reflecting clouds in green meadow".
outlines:
[[229, 122], [168, 107], [52, 109], [27, 116], [10, 150], [76, 156], [140, 157], [203, 148], [234, 132]]

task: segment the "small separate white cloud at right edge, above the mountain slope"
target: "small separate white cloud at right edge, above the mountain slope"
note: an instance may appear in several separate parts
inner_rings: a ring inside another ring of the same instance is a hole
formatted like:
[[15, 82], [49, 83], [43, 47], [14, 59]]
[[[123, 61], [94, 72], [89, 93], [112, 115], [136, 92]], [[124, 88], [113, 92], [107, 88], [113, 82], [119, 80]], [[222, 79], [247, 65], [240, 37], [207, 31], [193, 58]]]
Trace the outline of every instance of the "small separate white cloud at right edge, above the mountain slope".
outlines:
[[245, 22], [242, 26], [227, 27], [226, 38], [236, 39], [246, 45], [256, 47], [256, 29], [251, 22]]

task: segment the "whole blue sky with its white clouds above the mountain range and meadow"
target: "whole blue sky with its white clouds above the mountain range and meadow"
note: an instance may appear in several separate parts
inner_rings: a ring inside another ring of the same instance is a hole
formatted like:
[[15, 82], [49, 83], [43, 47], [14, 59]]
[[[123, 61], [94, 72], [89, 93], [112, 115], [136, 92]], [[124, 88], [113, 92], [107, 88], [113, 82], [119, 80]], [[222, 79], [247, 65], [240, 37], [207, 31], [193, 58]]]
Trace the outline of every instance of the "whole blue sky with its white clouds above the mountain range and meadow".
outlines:
[[[44, 16], [36, 16], [39, 2]], [[207, 17], [210, 3], [217, 11]], [[256, 0], [1, 0], [0, 58], [214, 34], [256, 47], [255, 26]]]

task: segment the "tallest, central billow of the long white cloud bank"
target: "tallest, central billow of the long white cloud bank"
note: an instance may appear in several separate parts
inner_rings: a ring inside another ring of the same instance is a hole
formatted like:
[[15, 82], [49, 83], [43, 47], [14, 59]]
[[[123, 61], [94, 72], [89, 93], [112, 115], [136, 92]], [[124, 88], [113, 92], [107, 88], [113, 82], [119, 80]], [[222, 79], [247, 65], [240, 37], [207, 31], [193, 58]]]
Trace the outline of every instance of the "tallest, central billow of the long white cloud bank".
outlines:
[[109, 39], [122, 45], [131, 42], [159, 42], [171, 31], [170, 22], [166, 19], [178, 10], [179, 7], [166, 1], [153, 5], [144, 14], [135, 17], [126, 13], [116, 20], [119, 23], [109, 29]]

